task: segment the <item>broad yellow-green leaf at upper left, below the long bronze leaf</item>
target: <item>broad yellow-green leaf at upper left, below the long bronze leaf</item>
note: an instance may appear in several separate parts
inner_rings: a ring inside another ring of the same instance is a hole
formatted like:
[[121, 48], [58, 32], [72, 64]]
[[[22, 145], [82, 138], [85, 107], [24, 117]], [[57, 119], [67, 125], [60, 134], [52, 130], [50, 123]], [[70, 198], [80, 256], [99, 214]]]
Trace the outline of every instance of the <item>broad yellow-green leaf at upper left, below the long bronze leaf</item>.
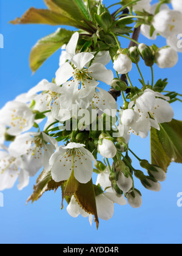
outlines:
[[35, 72], [63, 44], [67, 44], [73, 32], [58, 29], [55, 33], [42, 38], [35, 44], [30, 53], [30, 68]]

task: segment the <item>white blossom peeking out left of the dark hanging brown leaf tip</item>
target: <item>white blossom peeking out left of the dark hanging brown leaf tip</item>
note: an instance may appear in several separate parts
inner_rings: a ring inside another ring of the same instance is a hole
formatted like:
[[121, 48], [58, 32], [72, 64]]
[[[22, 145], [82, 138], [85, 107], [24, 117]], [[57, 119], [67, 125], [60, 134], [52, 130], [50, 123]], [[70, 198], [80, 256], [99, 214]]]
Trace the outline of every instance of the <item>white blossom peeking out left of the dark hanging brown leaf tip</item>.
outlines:
[[83, 216], [84, 218], [89, 217], [90, 225], [92, 225], [92, 221], [93, 221], [92, 214], [89, 214], [85, 210], [83, 210], [83, 208], [79, 206], [78, 202], [76, 202], [76, 199], [74, 196], [72, 196], [71, 201], [67, 206], [67, 212], [73, 218], [77, 218], [79, 215]]

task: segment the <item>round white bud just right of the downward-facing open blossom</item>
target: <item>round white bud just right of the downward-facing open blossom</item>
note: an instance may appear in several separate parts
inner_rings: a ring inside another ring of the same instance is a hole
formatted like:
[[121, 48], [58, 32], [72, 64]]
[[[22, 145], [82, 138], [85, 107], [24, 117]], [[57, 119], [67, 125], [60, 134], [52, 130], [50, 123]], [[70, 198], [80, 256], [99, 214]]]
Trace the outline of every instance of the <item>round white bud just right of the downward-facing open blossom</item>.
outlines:
[[111, 140], [104, 138], [102, 144], [98, 144], [98, 152], [103, 157], [113, 158], [116, 155], [117, 149]]

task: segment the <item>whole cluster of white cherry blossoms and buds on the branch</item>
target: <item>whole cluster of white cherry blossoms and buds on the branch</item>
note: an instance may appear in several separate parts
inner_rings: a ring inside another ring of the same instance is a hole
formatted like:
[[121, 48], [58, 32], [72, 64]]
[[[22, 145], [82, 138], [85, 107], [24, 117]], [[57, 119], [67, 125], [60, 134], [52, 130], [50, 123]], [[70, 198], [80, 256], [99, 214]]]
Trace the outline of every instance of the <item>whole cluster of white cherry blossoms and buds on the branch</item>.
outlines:
[[[133, 87], [128, 73], [133, 64], [139, 69], [141, 59], [151, 69], [154, 63], [160, 68], [171, 68], [177, 63], [182, 10], [180, 1], [175, 0], [172, 1], [174, 10], [167, 4], [151, 6], [150, 0], [134, 2], [133, 12], [140, 13], [140, 18], [143, 15], [145, 20], [142, 34], [150, 39], [160, 34], [167, 39], [167, 46], [158, 49], [138, 43], [138, 46], [123, 49], [111, 32], [116, 40], [113, 58], [108, 50], [87, 48], [81, 51], [78, 41], [82, 34], [73, 33], [69, 43], [62, 46], [53, 81], [42, 80], [0, 110], [0, 191], [12, 188], [18, 178], [18, 189], [22, 190], [29, 184], [29, 178], [43, 168], [44, 175], [39, 179], [50, 174], [49, 181], [59, 184], [69, 203], [69, 215], [89, 216], [90, 223], [93, 213], [81, 205], [76, 190], [80, 184], [92, 180], [93, 172], [98, 175], [93, 185], [97, 215], [104, 220], [112, 218], [114, 203], [126, 205], [128, 202], [133, 208], [141, 207], [141, 193], [135, 188], [133, 174], [148, 190], [160, 191], [159, 182], [166, 179], [166, 173], [160, 166], [150, 165], [138, 157], [147, 175], [134, 169], [128, 155], [132, 152], [129, 140], [131, 134], [146, 138], [152, 127], [160, 130], [160, 124], [172, 121], [174, 112], [169, 96], [161, 93], [163, 90], [154, 90], [153, 84], [146, 85], [141, 72], [142, 88]], [[98, 5], [105, 8], [101, 1]], [[113, 71], [106, 68], [111, 61], [116, 78]], [[129, 85], [119, 74], [126, 75]], [[99, 87], [100, 82], [104, 83], [104, 89]], [[118, 108], [116, 99], [108, 92], [108, 85], [122, 94], [123, 107]], [[70, 129], [66, 129], [67, 124]], [[106, 128], [108, 124], [110, 129]], [[32, 128], [37, 129], [36, 132]], [[65, 144], [59, 145], [60, 141]], [[98, 160], [99, 155], [104, 158], [103, 162]], [[112, 166], [109, 158], [113, 159]], [[46, 186], [47, 183], [42, 193]]]

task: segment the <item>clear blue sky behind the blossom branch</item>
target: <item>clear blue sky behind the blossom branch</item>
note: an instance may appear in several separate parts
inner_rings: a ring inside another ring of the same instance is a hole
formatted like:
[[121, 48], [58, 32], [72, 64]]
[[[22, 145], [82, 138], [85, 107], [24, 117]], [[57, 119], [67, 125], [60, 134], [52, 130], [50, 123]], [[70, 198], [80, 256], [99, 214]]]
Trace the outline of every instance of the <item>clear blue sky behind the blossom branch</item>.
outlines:
[[[18, 94], [24, 93], [45, 78], [52, 80], [58, 68], [59, 54], [56, 52], [32, 76], [29, 68], [29, 53], [36, 41], [54, 32], [57, 27], [29, 25], [13, 26], [8, 21], [21, 16], [25, 10], [34, 6], [44, 8], [42, 0], [1, 0], [0, 33], [4, 35], [4, 49], [0, 49], [1, 94], [0, 108]], [[115, 1], [104, 1], [106, 6]], [[154, 1], [155, 2], [155, 1]], [[143, 36], [140, 42], [149, 42]], [[124, 47], [129, 42], [122, 41]], [[155, 42], [163, 46], [165, 40]], [[159, 69], [155, 66], [155, 80], [168, 78], [168, 90], [181, 90], [182, 55], [177, 66], [172, 69]], [[146, 79], [150, 70], [141, 65]], [[137, 73], [138, 74], [138, 73]], [[130, 73], [133, 83], [138, 83], [135, 69]], [[172, 104], [175, 118], [181, 119], [181, 105]], [[150, 160], [149, 138], [142, 140], [132, 137], [130, 148], [141, 158]], [[138, 166], [138, 163], [133, 162]], [[138, 166], [139, 168], [139, 166]], [[37, 176], [36, 176], [37, 177]], [[66, 204], [61, 210], [61, 191], [46, 193], [33, 205], [25, 205], [32, 193], [36, 177], [30, 180], [29, 187], [18, 191], [4, 191], [4, 208], [0, 208], [0, 243], [181, 243], [182, 207], [177, 207], [177, 194], [182, 192], [181, 165], [170, 165], [167, 180], [162, 183], [159, 193], [147, 191], [138, 180], [135, 186], [143, 194], [143, 205], [134, 210], [129, 205], [115, 205], [115, 213], [109, 221], [100, 220], [99, 230], [88, 219], [72, 218], [67, 214]]]

